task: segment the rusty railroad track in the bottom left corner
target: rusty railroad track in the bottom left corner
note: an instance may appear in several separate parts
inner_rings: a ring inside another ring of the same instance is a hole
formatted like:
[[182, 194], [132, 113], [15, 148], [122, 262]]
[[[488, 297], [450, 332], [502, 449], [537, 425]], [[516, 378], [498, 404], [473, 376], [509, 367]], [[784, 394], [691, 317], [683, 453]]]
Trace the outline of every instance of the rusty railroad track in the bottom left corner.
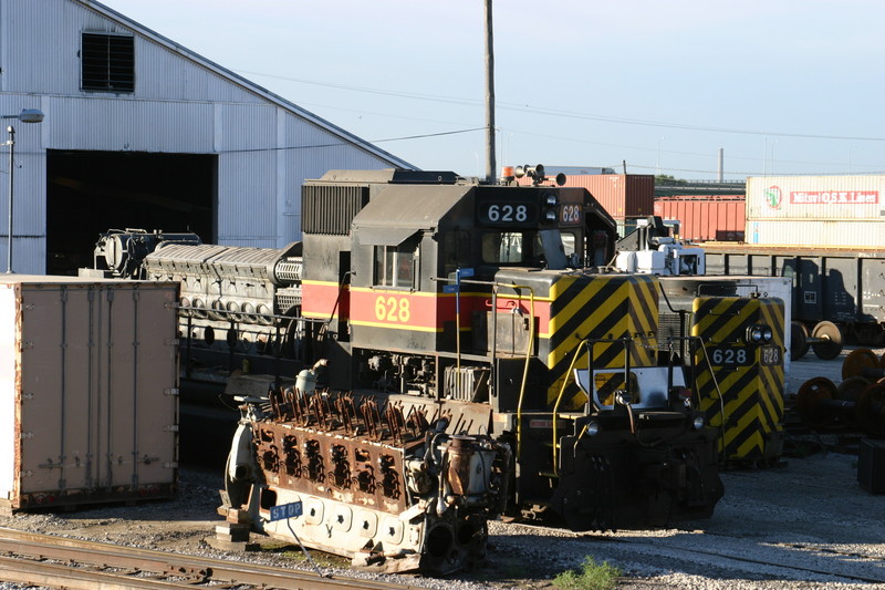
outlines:
[[93, 590], [250, 588], [414, 590], [377, 580], [121, 547], [0, 528], [0, 581]]

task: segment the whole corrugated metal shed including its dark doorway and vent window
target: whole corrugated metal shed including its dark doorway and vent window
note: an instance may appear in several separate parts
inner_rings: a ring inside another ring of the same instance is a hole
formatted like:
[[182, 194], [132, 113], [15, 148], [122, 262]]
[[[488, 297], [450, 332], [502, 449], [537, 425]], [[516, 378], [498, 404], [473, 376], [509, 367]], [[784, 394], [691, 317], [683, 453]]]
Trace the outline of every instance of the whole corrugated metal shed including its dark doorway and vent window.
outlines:
[[301, 236], [304, 179], [413, 167], [92, 0], [0, 0], [0, 115], [23, 108], [45, 118], [9, 121], [15, 272], [87, 265], [112, 227], [282, 247]]

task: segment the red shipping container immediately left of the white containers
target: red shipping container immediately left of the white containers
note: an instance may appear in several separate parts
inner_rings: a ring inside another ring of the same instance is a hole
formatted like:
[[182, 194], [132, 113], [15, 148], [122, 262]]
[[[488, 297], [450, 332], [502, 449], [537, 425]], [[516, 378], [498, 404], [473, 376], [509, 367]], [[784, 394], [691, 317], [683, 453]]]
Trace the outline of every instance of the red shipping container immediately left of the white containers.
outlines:
[[679, 238], [694, 241], [743, 241], [743, 195], [671, 196], [655, 199], [655, 215], [679, 221]]

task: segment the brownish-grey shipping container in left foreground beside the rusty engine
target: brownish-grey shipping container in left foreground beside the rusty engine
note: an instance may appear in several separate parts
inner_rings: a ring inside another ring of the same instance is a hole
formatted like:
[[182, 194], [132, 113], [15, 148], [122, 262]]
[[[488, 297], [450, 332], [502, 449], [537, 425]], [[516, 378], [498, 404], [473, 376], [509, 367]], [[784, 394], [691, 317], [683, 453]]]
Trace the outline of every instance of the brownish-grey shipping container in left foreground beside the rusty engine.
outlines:
[[0, 277], [0, 511], [169, 498], [178, 284]]

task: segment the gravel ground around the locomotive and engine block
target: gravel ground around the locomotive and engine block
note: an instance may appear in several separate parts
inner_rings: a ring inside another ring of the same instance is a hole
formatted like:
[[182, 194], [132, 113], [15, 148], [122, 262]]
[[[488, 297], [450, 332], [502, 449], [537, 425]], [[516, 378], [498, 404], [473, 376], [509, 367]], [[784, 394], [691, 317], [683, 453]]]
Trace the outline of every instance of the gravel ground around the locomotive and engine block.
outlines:
[[[793, 363], [790, 391], [811, 376], [837, 383], [840, 369], [841, 359], [821, 362], [810, 353]], [[625, 589], [885, 588], [864, 581], [885, 580], [885, 495], [858, 485], [857, 442], [856, 436], [793, 437], [788, 448], [806, 456], [784, 456], [780, 467], [723, 473], [726, 496], [709, 520], [597, 535], [492, 522], [486, 567], [457, 579], [389, 578], [439, 589], [552, 588], [553, 576], [593, 556], [625, 572], [620, 583]], [[220, 473], [183, 469], [180, 494], [171, 501], [22, 514], [0, 518], [0, 526], [222, 557], [204, 540], [220, 521]], [[376, 577], [313, 555], [340, 575]], [[280, 544], [228, 557], [306, 569], [296, 547]], [[14, 587], [0, 584], [6, 588]]]

